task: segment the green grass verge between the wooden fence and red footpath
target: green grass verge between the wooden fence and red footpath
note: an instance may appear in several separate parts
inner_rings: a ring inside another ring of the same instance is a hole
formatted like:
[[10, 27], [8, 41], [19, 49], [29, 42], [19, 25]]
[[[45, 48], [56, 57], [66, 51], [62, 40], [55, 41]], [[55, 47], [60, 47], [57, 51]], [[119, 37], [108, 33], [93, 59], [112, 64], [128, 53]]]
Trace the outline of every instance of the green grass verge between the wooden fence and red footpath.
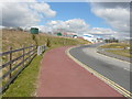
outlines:
[[32, 63], [18, 76], [3, 97], [32, 97], [36, 89], [41, 56], [36, 56]]

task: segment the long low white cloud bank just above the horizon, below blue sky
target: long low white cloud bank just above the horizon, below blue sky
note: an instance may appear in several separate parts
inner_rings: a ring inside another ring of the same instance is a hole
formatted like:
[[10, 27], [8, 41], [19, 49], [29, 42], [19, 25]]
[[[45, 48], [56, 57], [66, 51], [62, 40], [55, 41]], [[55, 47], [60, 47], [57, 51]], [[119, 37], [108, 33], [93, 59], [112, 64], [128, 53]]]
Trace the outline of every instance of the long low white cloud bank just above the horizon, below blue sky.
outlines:
[[[50, 21], [46, 26], [40, 26], [40, 29], [43, 32], [51, 32], [56, 31], [58, 29], [63, 29], [65, 31], [73, 31], [76, 32], [78, 35], [82, 35], [85, 33], [94, 34], [94, 35], [101, 35], [103, 37], [117, 35], [118, 32], [111, 30], [111, 29], [105, 29], [105, 28], [90, 28], [89, 24], [87, 24], [81, 19], [72, 19], [67, 21]], [[116, 36], [118, 37], [118, 36]]]

